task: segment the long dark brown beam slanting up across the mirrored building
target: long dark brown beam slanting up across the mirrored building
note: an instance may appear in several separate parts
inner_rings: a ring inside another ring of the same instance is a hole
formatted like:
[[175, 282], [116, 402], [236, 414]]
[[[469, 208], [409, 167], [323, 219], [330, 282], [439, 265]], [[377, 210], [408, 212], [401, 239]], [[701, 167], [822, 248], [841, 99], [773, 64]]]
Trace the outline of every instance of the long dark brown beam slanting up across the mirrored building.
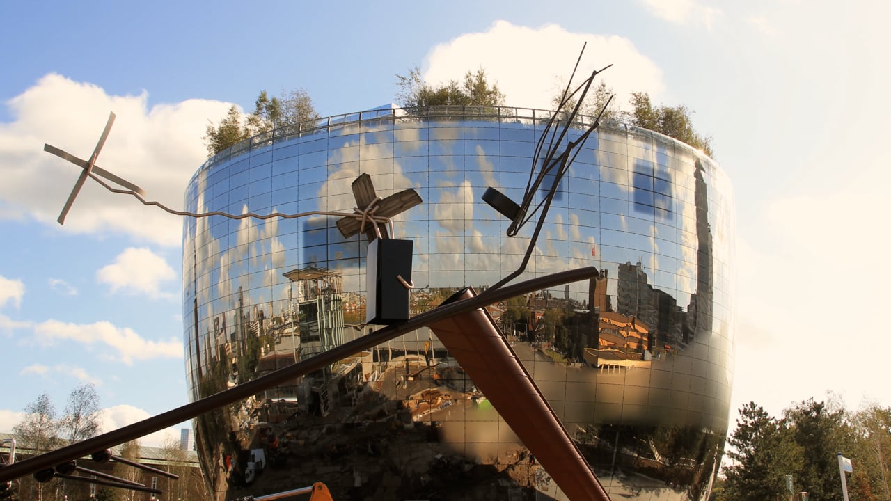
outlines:
[[272, 388], [282, 382], [294, 379], [321, 370], [327, 365], [339, 360], [351, 357], [360, 351], [370, 349], [382, 342], [390, 341], [396, 337], [410, 333], [424, 325], [437, 322], [449, 316], [457, 315], [465, 311], [482, 308], [501, 300], [508, 300], [514, 296], [527, 292], [538, 291], [562, 285], [564, 283], [577, 282], [586, 278], [593, 278], [598, 274], [595, 267], [581, 267], [562, 271], [552, 275], [539, 276], [524, 282], [514, 283], [497, 289], [489, 288], [485, 292], [469, 300], [461, 300], [451, 304], [431, 309], [420, 315], [413, 316], [401, 324], [388, 325], [379, 331], [369, 333], [354, 341], [348, 341], [338, 347], [329, 349], [292, 365], [282, 367], [273, 373], [258, 377], [249, 382], [223, 390], [209, 397], [201, 398], [182, 407], [176, 407], [165, 413], [152, 416], [138, 423], [129, 424], [118, 430], [102, 433], [92, 439], [86, 439], [64, 448], [59, 448], [39, 456], [29, 457], [24, 461], [9, 464], [0, 468], [0, 481], [12, 480], [33, 472], [39, 472], [46, 468], [52, 468], [56, 464], [72, 461], [78, 457], [88, 456], [96, 451], [104, 450], [124, 442], [138, 439], [154, 431], [163, 430], [176, 423], [183, 423], [189, 419], [202, 415], [217, 407], [232, 404], [243, 398]]

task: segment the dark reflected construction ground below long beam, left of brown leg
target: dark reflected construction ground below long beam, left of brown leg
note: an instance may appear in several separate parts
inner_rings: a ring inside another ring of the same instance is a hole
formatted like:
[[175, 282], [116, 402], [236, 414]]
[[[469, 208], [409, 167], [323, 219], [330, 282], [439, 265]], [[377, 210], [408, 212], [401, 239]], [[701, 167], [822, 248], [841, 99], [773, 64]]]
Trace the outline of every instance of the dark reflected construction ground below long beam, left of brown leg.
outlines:
[[296, 405], [249, 400], [217, 450], [217, 482], [244, 495], [323, 480], [340, 499], [533, 499], [549, 477], [439, 355], [376, 349], [341, 360], [323, 376], [326, 406], [314, 394]]

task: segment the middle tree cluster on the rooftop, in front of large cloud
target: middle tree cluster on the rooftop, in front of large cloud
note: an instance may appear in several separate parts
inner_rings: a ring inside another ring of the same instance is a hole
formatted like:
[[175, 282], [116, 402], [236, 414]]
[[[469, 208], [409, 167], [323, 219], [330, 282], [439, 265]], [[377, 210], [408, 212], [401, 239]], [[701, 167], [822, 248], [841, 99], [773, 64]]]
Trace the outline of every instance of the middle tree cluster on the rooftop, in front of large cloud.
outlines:
[[421, 70], [415, 67], [408, 71], [408, 75], [396, 75], [396, 86], [399, 87], [396, 101], [404, 108], [448, 104], [495, 107], [504, 103], [504, 94], [497, 84], [489, 82], [486, 70], [482, 68], [476, 73], [470, 70], [465, 73], [462, 83], [449, 80], [434, 86], [425, 82]]

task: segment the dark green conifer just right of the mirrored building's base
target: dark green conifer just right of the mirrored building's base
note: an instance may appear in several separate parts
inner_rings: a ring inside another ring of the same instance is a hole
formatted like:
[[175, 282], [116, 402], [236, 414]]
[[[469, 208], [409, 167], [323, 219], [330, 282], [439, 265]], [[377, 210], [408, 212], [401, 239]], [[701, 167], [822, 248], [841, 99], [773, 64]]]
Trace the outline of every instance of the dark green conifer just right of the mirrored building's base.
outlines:
[[798, 472], [804, 451], [786, 420], [777, 420], [754, 402], [740, 409], [737, 428], [727, 440], [734, 464], [725, 468], [727, 501], [772, 500], [788, 495], [784, 475]]

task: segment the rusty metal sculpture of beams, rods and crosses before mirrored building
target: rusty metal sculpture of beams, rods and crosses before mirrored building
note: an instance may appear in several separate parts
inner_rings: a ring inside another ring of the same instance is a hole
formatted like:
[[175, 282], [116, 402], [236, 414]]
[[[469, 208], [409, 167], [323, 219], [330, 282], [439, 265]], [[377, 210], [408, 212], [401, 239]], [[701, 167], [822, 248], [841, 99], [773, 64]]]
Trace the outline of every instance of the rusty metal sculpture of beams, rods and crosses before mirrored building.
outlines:
[[[581, 55], [580, 53], [579, 61], [581, 60]], [[576, 69], [577, 66], [578, 62], [576, 62]], [[568, 431], [562, 426], [560, 420], [554, 414], [546, 399], [544, 399], [541, 391], [535, 386], [535, 382], [526, 372], [519, 358], [513, 354], [504, 334], [495, 325], [491, 317], [488, 316], [485, 309], [483, 309], [485, 306], [499, 300], [507, 300], [527, 292], [576, 282], [598, 275], [599, 272], [596, 268], [584, 267], [505, 286], [505, 283], [510, 282], [525, 270], [554, 194], [557, 192], [560, 179], [567, 172], [569, 165], [575, 160], [580, 147], [600, 124], [600, 119], [606, 106], [601, 110], [600, 115], [591, 127], [588, 127], [576, 141], [568, 142], [562, 152], [559, 151], [560, 144], [567, 136], [568, 128], [571, 127], [585, 95], [593, 84], [593, 78], [607, 68], [609, 66], [602, 70], [594, 70], [592, 75], [586, 78], [572, 93], [569, 93], [572, 83], [572, 78], [570, 78], [567, 89], [561, 98], [560, 109], [569, 103], [571, 99], [576, 98], [577, 94], [576, 106], [568, 114], [568, 119], [566, 119], [561, 128], [557, 114], [552, 117], [545, 127], [536, 145], [527, 190], [521, 203], [517, 204], [511, 201], [502, 193], [498, 193], [494, 188], [489, 188], [486, 194], [484, 194], [484, 201], [490, 203], [496, 210], [511, 219], [511, 226], [507, 232], [509, 236], [518, 234], [519, 229], [541, 209], [541, 216], [520, 266], [510, 275], [507, 275], [501, 281], [495, 283], [494, 286], [487, 289], [486, 292], [475, 296], [472, 291], [464, 290], [437, 308], [412, 318], [400, 318], [379, 331], [365, 335], [355, 341], [341, 344], [315, 357], [283, 367], [271, 374], [241, 383], [231, 389], [220, 391], [210, 397], [201, 398], [183, 407], [177, 407], [119, 430], [103, 433], [92, 439], [86, 439], [65, 448], [31, 457], [18, 464], [4, 466], [0, 468], [0, 481], [11, 480], [29, 473], [36, 473], [36, 476], [46, 477], [47, 480], [53, 478], [53, 476], [66, 475], [70, 470], [70, 462], [78, 457], [97, 454], [96, 451], [103, 451], [106, 448], [127, 442], [128, 440], [137, 439], [153, 431], [159, 431], [176, 423], [182, 423], [242, 398], [248, 398], [260, 391], [272, 388], [282, 382], [292, 381], [295, 378], [322, 369], [326, 365], [331, 365], [344, 357], [354, 355], [356, 352], [364, 349], [370, 349], [382, 342], [395, 339], [401, 334], [426, 325], [437, 333], [446, 349], [453, 353], [455, 359], [464, 366], [471, 378], [479, 384], [479, 388], [492, 401], [495, 408], [505, 418], [505, 421], [511, 425], [511, 429], [524, 441], [527, 448], [540, 458], [545, 469], [557, 481], [560, 489], [568, 497], [572, 499], [609, 500], [609, 495], [602, 488], [591, 466], [585, 461], [584, 456], [576, 447]], [[576, 70], [573, 70], [573, 77], [575, 72]], [[609, 101], [607, 105], [609, 105]], [[143, 190], [138, 186], [96, 167], [96, 158], [108, 137], [113, 121], [114, 114], [112, 113], [102, 131], [99, 142], [96, 144], [93, 155], [86, 162], [49, 144], [45, 145], [46, 152], [51, 152], [83, 168], [78, 181], [69, 195], [68, 201], [66, 201], [61, 211], [59, 217], [60, 224], [64, 223], [71, 205], [86, 181], [86, 177], [93, 178], [112, 193], [130, 194], [144, 205], [155, 205], [168, 213], [192, 218], [205, 218], [215, 215], [233, 219], [301, 218], [309, 215], [340, 216], [341, 218], [337, 222], [337, 226], [341, 234], [348, 238], [358, 233], [365, 233], [372, 245], [375, 242], [380, 243], [380, 241], [384, 240], [386, 238], [385, 235], [388, 236], [387, 226], [389, 226], [389, 234], [392, 234], [392, 217], [421, 203], [421, 197], [411, 189], [390, 195], [386, 199], [381, 200], [374, 192], [371, 177], [363, 175], [353, 183], [357, 207], [352, 213], [309, 211], [299, 214], [274, 212], [266, 215], [254, 213], [234, 215], [219, 211], [192, 213], [169, 209], [157, 201], [146, 201], [143, 198]], [[550, 140], [548, 140], [548, 136], [550, 136]], [[544, 146], [545, 142], [547, 142], [546, 148]], [[544, 155], [542, 155], [543, 151]], [[542, 158], [540, 165], [539, 158]], [[536, 171], [538, 172], [537, 176], [535, 176]], [[123, 186], [125, 189], [121, 190], [111, 187], [103, 182], [99, 178], [100, 176]], [[549, 177], [552, 178], [552, 185], [548, 189], [544, 201], [529, 213], [535, 193]], [[371, 227], [366, 227], [366, 224], [369, 223]], [[401, 282], [406, 290], [411, 288], [410, 279], [409, 281], [403, 279]], [[519, 398], [516, 393], [518, 388], [522, 389], [519, 393]], [[127, 489], [135, 487], [130, 486]]]

